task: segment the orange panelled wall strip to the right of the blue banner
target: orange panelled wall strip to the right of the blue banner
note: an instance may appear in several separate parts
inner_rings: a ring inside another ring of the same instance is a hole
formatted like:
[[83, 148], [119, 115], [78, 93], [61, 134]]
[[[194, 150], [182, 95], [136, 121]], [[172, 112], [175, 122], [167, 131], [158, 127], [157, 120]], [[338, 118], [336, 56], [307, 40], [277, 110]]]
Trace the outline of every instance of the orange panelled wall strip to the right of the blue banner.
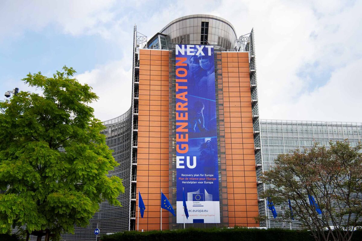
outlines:
[[248, 53], [222, 52], [222, 77], [229, 227], [258, 227]]

